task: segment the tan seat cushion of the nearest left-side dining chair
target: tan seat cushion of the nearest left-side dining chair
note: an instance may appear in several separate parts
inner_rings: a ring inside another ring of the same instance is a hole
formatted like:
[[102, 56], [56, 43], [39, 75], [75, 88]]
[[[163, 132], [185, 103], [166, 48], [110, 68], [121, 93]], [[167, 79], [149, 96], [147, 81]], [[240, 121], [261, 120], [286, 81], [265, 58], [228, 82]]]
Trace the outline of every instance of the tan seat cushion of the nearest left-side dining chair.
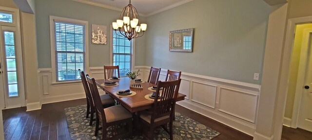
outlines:
[[132, 118], [132, 114], [121, 105], [104, 108], [106, 123]]

